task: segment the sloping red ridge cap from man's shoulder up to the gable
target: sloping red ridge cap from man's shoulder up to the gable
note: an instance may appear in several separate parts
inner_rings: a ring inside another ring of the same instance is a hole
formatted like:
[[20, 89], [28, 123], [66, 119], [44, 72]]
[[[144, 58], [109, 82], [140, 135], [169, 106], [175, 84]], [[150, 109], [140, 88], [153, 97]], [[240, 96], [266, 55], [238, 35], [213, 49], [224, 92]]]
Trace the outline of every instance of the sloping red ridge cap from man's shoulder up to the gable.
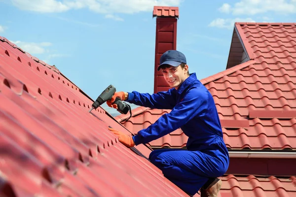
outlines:
[[223, 76], [226, 76], [226, 75], [231, 74], [231, 73], [233, 73], [233, 72], [236, 72], [236, 71], [238, 71], [238, 70], [240, 70], [240, 69], [243, 69], [243, 68], [245, 68], [245, 67], [248, 67], [248, 66], [250, 66], [250, 65], [252, 65], [252, 64], [254, 64], [254, 63], [256, 63], [255, 60], [249, 60], [249, 61], [244, 62], [244, 63], [242, 63], [242, 64], [239, 64], [239, 65], [233, 66], [233, 67], [231, 67], [231, 68], [227, 68], [226, 70], [223, 70], [223, 71], [221, 71], [221, 72], [218, 72], [217, 74], [214, 74], [214, 75], [212, 75], [212, 76], [209, 76], [209, 77], [206, 77], [206, 78], [204, 78], [204, 79], [201, 79], [200, 82], [201, 82], [203, 85], [205, 85], [205, 84], [207, 84], [207, 83], [210, 83], [210, 82], [212, 82], [212, 81], [215, 81], [215, 80], [217, 80], [217, 79], [220, 79], [220, 78], [222, 78]]

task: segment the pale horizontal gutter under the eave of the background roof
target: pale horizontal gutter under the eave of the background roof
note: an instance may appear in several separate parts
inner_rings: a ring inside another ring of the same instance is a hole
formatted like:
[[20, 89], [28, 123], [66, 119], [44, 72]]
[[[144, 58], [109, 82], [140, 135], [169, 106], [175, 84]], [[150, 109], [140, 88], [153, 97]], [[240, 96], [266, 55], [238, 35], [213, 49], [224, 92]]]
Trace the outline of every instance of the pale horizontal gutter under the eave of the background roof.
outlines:
[[245, 152], [229, 151], [231, 158], [272, 158], [272, 159], [296, 159], [296, 152]]

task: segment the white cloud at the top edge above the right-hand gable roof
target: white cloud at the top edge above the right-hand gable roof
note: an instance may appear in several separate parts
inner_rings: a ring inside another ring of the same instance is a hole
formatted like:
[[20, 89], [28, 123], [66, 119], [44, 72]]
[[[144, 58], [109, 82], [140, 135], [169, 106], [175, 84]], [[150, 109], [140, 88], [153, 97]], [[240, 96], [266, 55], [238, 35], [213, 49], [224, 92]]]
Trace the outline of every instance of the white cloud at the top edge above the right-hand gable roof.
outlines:
[[255, 15], [269, 11], [291, 14], [296, 13], [296, 0], [241, 0], [232, 6], [224, 3], [219, 10], [233, 15]]

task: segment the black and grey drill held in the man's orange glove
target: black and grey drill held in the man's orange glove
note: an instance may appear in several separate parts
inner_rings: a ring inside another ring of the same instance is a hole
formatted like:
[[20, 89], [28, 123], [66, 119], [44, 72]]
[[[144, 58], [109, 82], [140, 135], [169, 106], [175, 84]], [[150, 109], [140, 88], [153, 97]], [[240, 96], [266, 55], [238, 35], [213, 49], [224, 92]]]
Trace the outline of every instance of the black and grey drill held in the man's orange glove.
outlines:
[[[96, 99], [96, 101], [91, 105], [92, 108], [88, 112], [91, 112], [91, 110], [98, 108], [101, 104], [103, 104], [107, 100], [110, 100], [115, 92], [116, 88], [114, 86], [108, 86], [108, 88], [106, 88]], [[122, 102], [119, 98], [116, 98], [112, 104], [117, 104], [117, 111], [121, 114], [127, 114], [130, 109], [130, 106], [125, 102]]]

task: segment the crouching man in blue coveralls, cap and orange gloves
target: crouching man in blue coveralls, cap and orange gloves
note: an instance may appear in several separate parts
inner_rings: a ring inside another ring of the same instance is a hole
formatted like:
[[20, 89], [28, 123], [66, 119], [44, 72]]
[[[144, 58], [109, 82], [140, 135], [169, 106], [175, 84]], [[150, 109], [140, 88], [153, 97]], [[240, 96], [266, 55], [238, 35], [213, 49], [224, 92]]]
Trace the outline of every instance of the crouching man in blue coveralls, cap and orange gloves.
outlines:
[[223, 141], [222, 128], [214, 99], [196, 78], [189, 74], [185, 55], [176, 50], [165, 52], [160, 58], [164, 79], [171, 89], [156, 94], [116, 92], [107, 101], [110, 107], [116, 97], [140, 106], [171, 109], [147, 129], [130, 137], [109, 129], [127, 147], [148, 143], [181, 128], [188, 136], [186, 150], [159, 149], [149, 160], [162, 170], [164, 176], [189, 195], [200, 190], [201, 197], [217, 197], [222, 181], [217, 178], [228, 169], [229, 155]]

